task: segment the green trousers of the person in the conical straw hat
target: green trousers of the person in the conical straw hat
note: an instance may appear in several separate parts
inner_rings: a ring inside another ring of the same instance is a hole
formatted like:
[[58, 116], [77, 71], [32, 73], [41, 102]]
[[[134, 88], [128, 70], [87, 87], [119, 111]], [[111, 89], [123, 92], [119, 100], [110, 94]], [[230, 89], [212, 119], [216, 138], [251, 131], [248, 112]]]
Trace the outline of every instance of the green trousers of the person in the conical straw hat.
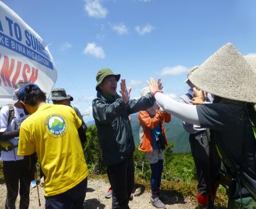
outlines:
[[[242, 207], [241, 207], [242, 203]], [[256, 209], [256, 201], [253, 198], [229, 199], [227, 203], [228, 209]]]

